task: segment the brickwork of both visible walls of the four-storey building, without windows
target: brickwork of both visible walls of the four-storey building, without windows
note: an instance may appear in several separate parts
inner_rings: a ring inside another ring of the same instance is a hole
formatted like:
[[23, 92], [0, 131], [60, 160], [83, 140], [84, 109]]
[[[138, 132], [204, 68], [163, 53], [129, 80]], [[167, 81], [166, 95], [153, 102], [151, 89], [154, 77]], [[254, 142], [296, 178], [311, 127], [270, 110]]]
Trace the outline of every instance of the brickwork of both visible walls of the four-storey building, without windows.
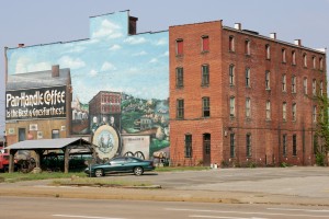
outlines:
[[[201, 36], [209, 36], [209, 53], [201, 53]], [[235, 50], [229, 51], [229, 36], [235, 38]], [[175, 39], [184, 41], [183, 56], [175, 56]], [[250, 55], [245, 53], [245, 41], [250, 42]], [[303, 46], [222, 27], [222, 22], [206, 22], [169, 28], [170, 42], [170, 142], [172, 164], [197, 164], [203, 160], [202, 135], [212, 135], [211, 163], [228, 165], [279, 165], [287, 162], [297, 165], [314, 163], [311, 119], [311, 83], [316, 79], [326, 87], [326, 57], [322, 53]], [[271, 58], [265, 58], [265, 45], [270, 45]], [[282, 49], [286, 62], [282, 61]], [[292, 51], [296, 51], [296, 65], [292, 65]], [[307, 68], [303, 54], [307, 54]], [[317, 68], [313, 68], [313, 59]], [[319, 58], [324, 70], [319, 70]], [[201, 87], [201, 66], [209, 65], [209, 87]], [[235, 65], [235, 83], [229, 84], [229, 66]], [[184, 68], [184, 87], [175, 88], [175, 68]], [[250, 68], [251, 87], [246, 88], [246, 68]], [[270, 90], [265, 90], [265, 71], [271, 72]], [[286, 74], [286, 92], [282, 91], [282, 76]], [[292, 93], [292, 77], [295, 76], [296, 93]], [[307, 78], [308, 94], [304, 94], [303, 81]], [[319, 90], [319, 85], [317, 88]], [[202, 97], [211, 99], [211, 117], [202, 118]], [[235, 96], [236, 116], [229, 116], [229, 99]], [[251, 117], [246, 118], [246, 97], [251, 100]], [[175, 119], [177, 99], [184, 99], [184, 119]], [[271, 119], [265, 119], [265, 103], [271, 102]], [[283, 122], [283, 102], [286, 102], [286, 122]], [[296, 120], [293, 122], [292, 105], [296, 103]], [[318, 108], [319, 111], [319, 108]], [[236, 135], [236, 153], [230, 158], [229, 135]], [[193, 158], [184, 159], [184, 135], [193, 136]], [[226, 134], [226, 135], [225, 135]], [[252, 155], [246, 155], [246, 135], [251, 135]], [[287, 135], [287, 154], [283, 157], [282, 136]], [[297, 136], [297, 155], [293, 155], [293, 135]]]

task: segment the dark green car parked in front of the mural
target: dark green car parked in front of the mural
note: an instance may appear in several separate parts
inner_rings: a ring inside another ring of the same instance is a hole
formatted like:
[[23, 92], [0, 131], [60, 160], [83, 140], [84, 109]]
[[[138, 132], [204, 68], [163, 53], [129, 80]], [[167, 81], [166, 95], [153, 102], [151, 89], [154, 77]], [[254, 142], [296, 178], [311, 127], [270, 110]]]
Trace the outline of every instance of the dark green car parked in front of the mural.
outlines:
[[145, 171], [155, 170], [154, 161], [134, 157], [116, 157], [102, 164], [92, 164], [84, 170], [91, 176], [101, 177], [110, 173], [134, 173], [141, 175]]

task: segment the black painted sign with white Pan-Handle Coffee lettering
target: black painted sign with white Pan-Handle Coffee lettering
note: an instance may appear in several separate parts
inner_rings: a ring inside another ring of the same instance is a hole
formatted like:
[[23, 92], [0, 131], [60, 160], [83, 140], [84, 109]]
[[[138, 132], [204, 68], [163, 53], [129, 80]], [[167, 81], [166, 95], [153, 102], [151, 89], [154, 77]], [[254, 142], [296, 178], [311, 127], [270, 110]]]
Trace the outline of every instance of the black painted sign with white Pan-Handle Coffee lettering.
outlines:
[[66, 87], [5, 92], [5, 119], [66, 116]]

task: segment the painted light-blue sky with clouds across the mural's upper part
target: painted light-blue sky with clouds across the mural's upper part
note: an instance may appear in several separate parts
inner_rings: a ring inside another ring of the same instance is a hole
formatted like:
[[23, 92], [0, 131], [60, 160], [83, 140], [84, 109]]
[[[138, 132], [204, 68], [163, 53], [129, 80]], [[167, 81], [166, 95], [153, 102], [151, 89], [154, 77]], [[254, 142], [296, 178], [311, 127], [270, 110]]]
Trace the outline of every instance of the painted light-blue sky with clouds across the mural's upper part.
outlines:
[[128, 35], [128, 11], [90, 18], [90, 38], [8, 50], [9, 74], [70, 68], [73, 97], [99, 91], [169, 96], [168, 31]]

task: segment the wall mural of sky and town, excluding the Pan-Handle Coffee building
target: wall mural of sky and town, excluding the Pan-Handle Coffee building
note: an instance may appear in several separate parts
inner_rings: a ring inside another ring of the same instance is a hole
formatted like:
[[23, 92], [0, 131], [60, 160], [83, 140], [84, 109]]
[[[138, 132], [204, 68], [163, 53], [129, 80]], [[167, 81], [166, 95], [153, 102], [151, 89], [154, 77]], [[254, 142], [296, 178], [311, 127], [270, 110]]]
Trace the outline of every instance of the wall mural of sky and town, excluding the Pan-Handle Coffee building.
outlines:
[[148, 159], [169, 147], [168, 31], [129, 34], [134, 19], [92, 16], [88, 39], [7, 50], [9, 76], [70, 69], [71, 134], [92, 136], [103, 160]]

